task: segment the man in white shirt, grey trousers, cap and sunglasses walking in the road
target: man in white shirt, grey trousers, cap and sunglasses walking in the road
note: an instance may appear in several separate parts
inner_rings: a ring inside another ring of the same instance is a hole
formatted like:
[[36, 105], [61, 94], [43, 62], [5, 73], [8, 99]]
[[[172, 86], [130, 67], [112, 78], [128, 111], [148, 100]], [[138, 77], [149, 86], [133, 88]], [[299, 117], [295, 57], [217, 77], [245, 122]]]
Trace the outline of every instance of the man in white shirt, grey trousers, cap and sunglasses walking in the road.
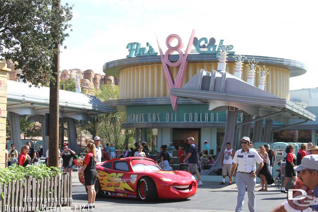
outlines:
[[[255, 184], [256, 175], [259, 170], [264, 166], [263, 159], [256, 151], [252, 151], [249, 147], [250, 138], [243, 137], [241, 139], [242, 149], [235, 152], [233, 157], [233, 166], [229, 182], [232, 183], [232, 176], [236, 167], [236, 186], [238, 188], [236, 212], [242, 212], [244, 204], [245, 187], [247, 186], [248, 194], [248, 209], [250, 212], [255, 212]], [[255, 162], [259, 164], [259, 168], [255, 171]]]

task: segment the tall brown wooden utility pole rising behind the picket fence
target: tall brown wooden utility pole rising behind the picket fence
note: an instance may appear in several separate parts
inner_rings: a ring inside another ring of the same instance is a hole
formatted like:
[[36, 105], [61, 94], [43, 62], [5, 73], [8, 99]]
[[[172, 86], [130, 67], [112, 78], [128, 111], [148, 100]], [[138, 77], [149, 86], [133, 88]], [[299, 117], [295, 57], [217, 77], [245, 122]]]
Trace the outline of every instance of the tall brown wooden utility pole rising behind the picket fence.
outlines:
[[[53, 1], [53, 8], [60, 8], [60, 0]], [[56, 26], [58, 27], [58, 26]], [[54, 29], [52, 30], [54, 37]], [[60, 44], [55, 44], [55, 49], [58, 51], [53, 58], [52, 75], [55, 82], [50, 82], [50, 108], [49, 108], [49, 167], [59, 166], [59, 65], [60, 65]]]

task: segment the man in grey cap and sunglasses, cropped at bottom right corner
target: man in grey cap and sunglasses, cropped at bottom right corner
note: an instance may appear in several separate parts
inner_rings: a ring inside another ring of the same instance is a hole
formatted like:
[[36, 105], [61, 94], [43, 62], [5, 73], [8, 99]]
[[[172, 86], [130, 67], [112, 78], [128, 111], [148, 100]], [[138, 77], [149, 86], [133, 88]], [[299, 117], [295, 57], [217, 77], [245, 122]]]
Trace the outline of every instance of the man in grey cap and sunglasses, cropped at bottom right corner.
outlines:
[[[286, 201], [283, 204], [279, 205], [278, 207], [274, 208], [271, 212], [318, 211], [318, 155], [310, 154], [303, 157], [301, 159], [301, 165], [294, 167], [294, 169], [295, 171], [299, 171], [298, 177], [301, 179], [301, 182], [305, 186], [307, 186], [309, 189], [312, 190], [312, 194], [309, 195], [311, 198], [308, 198], [309, 201], [311, 202], [309, 202], [308, 200], [299, 202], [301, 200], [297, 200], [298, 205], [295, 205], [294, 200], [289, 202]], [[305, 193], [308, 194], [308, 190]], [[291, 194], [288, 191], [288, 197], [290, 197], [290, 195]], [[303, 204], [305, 204], [305, 206], [302, 206]], [[310, 205], [306, 206], [307, 204], [310, 204]]]

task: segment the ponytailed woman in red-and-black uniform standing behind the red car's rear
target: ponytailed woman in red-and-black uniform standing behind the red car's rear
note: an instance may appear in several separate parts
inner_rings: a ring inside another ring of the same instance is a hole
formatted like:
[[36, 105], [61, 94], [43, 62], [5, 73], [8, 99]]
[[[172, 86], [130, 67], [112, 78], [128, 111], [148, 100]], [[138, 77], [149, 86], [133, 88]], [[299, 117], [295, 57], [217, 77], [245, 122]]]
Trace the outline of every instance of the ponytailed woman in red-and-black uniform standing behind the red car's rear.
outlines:
[[80, 170], [79, 174], [84, 175], [85, 186], [88, 190], [88, 204], [84, 209], [95, 208], [95, 181], [97, 177], [97, 172], [95, 169], [96, 164], [96, 148], [95, 144], [88, 143], [86, 146], [86, 151], [88, 152], [84, 158], [84, 165]]

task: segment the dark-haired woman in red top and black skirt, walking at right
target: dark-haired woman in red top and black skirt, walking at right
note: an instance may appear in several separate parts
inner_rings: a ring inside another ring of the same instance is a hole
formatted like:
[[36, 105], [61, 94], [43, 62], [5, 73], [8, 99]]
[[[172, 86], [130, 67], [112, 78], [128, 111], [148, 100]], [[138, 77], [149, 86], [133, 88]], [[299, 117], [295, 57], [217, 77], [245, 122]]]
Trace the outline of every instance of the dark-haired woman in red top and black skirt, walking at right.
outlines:
[[287, 157], [286, 157], [287, 161], [286, 161], [286, 166], [285, 166], [286, 178], [283, 182], [283, 187], [281, 188], [281, 191], [280, 191], [281, 193], [288, 193], [285, 190], [285, 186], [291, 177], [293, 177], [294, 182], [297, 181], [296, 172], [294, 170], [295, 163], [296, 163], [296, 157], [293, 154], [293, 151], [294, 151], [293, 145], [288, 145], [286, 147], [286, 150], [285, 150], [285, 152], [287, 153]]

